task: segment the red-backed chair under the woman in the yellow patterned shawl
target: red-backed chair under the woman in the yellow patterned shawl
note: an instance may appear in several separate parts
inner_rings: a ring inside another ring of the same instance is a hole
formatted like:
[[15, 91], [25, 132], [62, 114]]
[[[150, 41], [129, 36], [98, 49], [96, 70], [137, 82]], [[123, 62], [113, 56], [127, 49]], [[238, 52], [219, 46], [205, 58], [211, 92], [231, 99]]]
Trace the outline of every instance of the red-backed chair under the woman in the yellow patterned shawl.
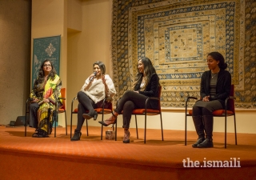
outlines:
[[[60, 101], [60, 99], [62, 99], [62, 106], [60, 108], [58, 108], [58, 103], [56, 103], [55, 106], [55, 110], [58, 110], [58, 113], [65, 113], [65, 120], [66, 120], [66, 88], [62, 88], [61, 89], [61, 97], [58, 98], [58, 101]], [[27, 121], [27, 114], [30, 114], [30, 110], [29, 110], [29, 102], [30, 102], [30, 98], [26, 99], [26, 120], [25, 120], [25, 136], [26, 136], [26, 126], [28, 125], [28, 121]], [[56, 125], [58, 122], [58, 114], [56, 112], [54, 112], [55, 114], [55, 126], [54, 126], [54, 138], [56, 138]], [[53, 123], [54, 123], [53, 122]], [[48, 122], [48, 127], [50, 126], [50, 122]], [[48, 128], [48, 132], [49, 134], [49, 128]], [[67, 127], [66, 127], [66, 135], [67, 135]]]

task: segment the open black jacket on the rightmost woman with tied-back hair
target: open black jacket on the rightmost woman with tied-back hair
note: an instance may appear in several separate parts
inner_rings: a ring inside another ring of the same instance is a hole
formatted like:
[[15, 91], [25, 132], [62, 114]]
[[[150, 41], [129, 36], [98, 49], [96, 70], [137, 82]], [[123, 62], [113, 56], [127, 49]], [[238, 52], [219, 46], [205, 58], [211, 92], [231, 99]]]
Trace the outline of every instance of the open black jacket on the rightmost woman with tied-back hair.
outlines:
[[[205, 96], [210, 95], [210, 70], [207, 70], [202, 74], [201, 78], [201, 87], [200, 87], [200, 96], [204, 98]], [[222, 106], [225, 104], [225, 99], [230, 95], [231, 88], [231, 74], [227, 70], [220, 70], [218, 72], [218, 79], [216, 85], [216, 95], [210, 97], [210, 101], [218, 100], [222, 103]]]

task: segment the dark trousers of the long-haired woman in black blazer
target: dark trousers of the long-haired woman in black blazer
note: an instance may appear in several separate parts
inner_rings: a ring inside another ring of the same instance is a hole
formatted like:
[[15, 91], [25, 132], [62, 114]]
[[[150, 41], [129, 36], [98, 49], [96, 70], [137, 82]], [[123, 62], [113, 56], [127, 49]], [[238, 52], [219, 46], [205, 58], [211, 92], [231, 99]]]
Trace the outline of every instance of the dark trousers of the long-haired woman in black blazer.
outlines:
[[[129, 128], [130, 126], [130, 118], [132, 111], [134, 109], [144, 109], [145, 102], [146, 102], [145, 95], [138, 94], [132, 90], [127, 90], [125, 94], [123, 94], [122, 98], [118, 102], [118, 106], [116, 111], [118, 114], [121, 114], [122, 110], [122, 121], [123, 121], [123, 128]], [[149, 105], [147, 108], [151, 108]]]

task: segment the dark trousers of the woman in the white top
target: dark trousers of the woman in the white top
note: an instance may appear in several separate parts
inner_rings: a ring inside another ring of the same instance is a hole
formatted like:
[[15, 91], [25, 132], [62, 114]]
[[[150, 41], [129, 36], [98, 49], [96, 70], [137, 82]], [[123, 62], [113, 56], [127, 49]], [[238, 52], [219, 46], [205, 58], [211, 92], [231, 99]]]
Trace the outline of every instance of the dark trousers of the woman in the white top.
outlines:
[[91, 100], [84, 92], [78, 92], [78, 124], [76, 130], [81, 130], [85, 118], [82, 117], [82, 114], [86, 114], [86, 110], [94, 110], [96, 104]]

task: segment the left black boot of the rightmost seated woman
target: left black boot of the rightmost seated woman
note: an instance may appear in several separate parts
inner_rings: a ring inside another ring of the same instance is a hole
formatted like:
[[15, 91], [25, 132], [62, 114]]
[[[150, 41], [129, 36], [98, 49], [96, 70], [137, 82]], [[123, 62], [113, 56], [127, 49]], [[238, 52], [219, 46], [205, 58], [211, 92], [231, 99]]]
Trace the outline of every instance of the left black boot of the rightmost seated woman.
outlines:
[[202, 116], [193, 116], [193, 122], [195, 130], [198, 134], [198, 141], [195, 142], [192, 147], [198, 147], [198, 144], [202, 143], [205, 140], [205, 133], [203, 130]]

